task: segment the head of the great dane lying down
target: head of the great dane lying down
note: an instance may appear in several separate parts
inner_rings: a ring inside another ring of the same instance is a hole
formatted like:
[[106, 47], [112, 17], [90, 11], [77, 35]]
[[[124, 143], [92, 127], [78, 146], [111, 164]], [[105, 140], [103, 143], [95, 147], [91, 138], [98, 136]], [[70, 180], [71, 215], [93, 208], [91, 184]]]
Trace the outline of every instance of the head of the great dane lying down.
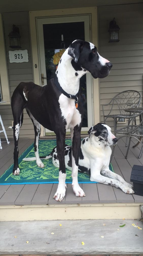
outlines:
[[98, 123], [90, 128], [88, 131], [89, 138], [94, 136], [98, 142], [104, 143], [107, 146], [115, 145], [118, 139], [111, 133], [111, 128], [107, 124]]

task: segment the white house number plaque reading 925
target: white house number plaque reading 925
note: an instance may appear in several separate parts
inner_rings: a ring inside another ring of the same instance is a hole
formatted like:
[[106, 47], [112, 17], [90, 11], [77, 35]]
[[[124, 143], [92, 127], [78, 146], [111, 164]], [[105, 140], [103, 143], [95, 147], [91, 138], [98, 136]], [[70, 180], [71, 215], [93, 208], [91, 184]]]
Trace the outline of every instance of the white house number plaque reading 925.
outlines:
[[28, 51], [27, 50], [15, 50], [9, 51], [9, 62], [28, 62]]

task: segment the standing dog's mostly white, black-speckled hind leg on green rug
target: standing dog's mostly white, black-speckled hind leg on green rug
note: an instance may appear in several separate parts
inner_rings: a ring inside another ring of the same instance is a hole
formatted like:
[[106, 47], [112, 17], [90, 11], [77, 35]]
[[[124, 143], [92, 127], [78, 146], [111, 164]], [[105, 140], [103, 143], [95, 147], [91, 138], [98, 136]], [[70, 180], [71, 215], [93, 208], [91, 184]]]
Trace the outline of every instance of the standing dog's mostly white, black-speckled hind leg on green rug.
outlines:
[[41, 125], [40, 125], [40, 123], [38, 123], [38, 121], [31, 114], [29, 109], [26, 108], [26, 111], [27, 111], [27, 114], [31, 118], [32, 123], [34, 125], [34, 131], [35, 131], [34, 152], [35, 152], [35, 156], [36, 156], [36, 164], [38, 165], [38, 167], [43, 168], [45, 166], [44, 166], [44, 164], [42, 163], [42, 161], [39, 157], [39, 137], [40, 137], [40, 133], [41, 133]]

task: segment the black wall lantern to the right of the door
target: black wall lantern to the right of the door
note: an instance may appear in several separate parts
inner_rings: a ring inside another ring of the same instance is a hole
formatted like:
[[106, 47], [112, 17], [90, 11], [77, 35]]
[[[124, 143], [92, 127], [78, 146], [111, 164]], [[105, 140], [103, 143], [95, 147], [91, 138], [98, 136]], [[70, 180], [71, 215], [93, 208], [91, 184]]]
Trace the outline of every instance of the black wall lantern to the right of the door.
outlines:
[[116, 24], [115, 18], [109, 24], [109, 42], [119, 42], [119, 26]]

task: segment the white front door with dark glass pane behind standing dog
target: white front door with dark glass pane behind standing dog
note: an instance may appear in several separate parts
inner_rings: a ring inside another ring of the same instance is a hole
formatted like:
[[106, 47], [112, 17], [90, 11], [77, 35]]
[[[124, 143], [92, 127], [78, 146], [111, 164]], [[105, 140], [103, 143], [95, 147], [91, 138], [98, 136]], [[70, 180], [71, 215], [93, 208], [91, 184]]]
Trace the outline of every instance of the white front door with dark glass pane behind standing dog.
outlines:
[[[90, 15], [37, 18], [37, 36], [40, 62], [40, 85], [45, 86], [53, 78], [56, 65], [53, 55], [60, 49], [68, 48], [75, 39], [90, 42]], [[43, 77], [43, 79], [41, 79]], [[80, 79], [84, 117], [81, 133], [87, 133], [93, 125], [93, 101], [91, 74], [85, 74]], [[45, 129], [45, 135], [54, 133]]]

